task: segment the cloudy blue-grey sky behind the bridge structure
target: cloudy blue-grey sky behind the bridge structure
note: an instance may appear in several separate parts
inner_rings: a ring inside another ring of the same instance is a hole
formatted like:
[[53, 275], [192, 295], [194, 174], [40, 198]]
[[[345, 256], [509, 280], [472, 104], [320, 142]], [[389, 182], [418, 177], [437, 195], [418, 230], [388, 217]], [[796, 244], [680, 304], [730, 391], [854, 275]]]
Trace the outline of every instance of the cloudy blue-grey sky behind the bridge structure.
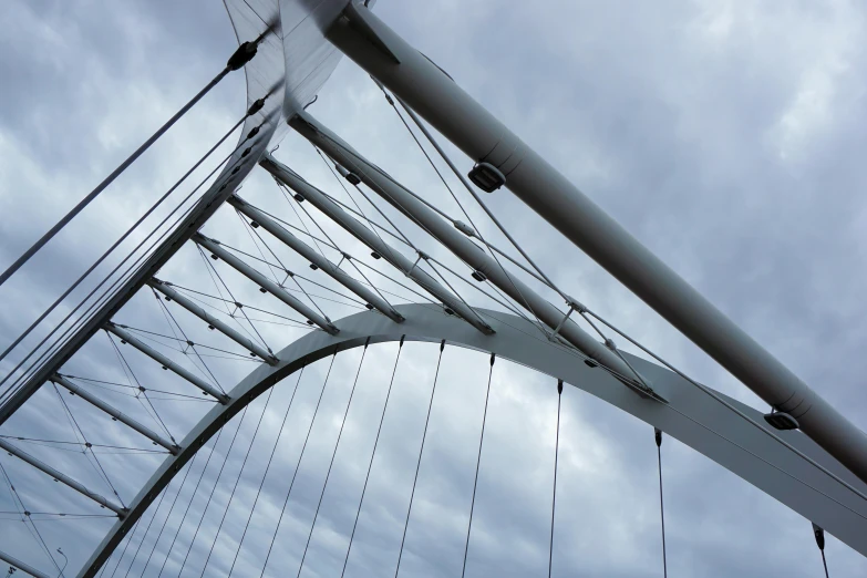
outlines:
[[[651, 6], [443, 0], [410, 6], [381, 0], [375, 11], [844, 415], [867, 427], [861, 391], [867, 329], [860, 322], [867, 316], [861, 298], [867, 293], [867, 202], [861, 194], [867, 167], [860, 154], [867, 144], [860, 73], [867, 54], [867, 9], [844, 1]], [[3, 6], [0, 30], [0, 266], [6, 267], [209, 81], [236, 40], [221, 2], [204, 0], [11, 0]], [[235, 73], [0, 288], [3, 349], [241, 116], [245, 102], [242, 78]], [[382, 94], [351, 62], [341, 62], [310, 112], [413, 190], [458, 215]], [[235, 138], [214, 162], [231, 151]], [[344, 202], [360, 199], [347, 196], [298, 135], [289, 134], [275, 154]], [[469, 166], [458, 154], [455, 159]], [[214, 162], [179, 194], [202, 180]], [[240, 195], [316, 233], [303, 214], [299, 223], [262, 173], [258, 171]], [[693, 378], [763, 407], [508, 192], [486, 198], [569, 293]], [[505, 247], [465, 200], [486, 237]], [[157, 211], [158, 218], [165, 213]], [[341, 248], [367, 256], [351, 238], [317, 219], [323, 235]], [[422, 231], [406, 221], [399, 225], [420, 247], [447, 259]], [[204, 230], [252, 255], [267, 251], [226, 208]], [[321, 273], [316, 277], [298, 257], [272, 239], [268, 242], [287, 267], [323, 282]], [[190, 245], [161, 277], [216, 295], [220, 286], [208, 267]], [[214, 267], [236, 300], [298, 319], [225, 264]], [[375, 267], [389, 271], [381, 262]], [[264, 265], [259, 270], [272, 271]], [[412, 297], [385, 281], [383, 287]], [[333, 297], [317, 286], [306, 289]], [[474, 303], [489, 305], [469, 286], [461, 291]], [[343, 298], [336, 300], [342, 305], [317, 297], [332, 318], [358, 311]], [[173, 311], [193, 341], [238, 351], [231, 341], [208, 334], [192, 316]], [[305, 333], [286, 319], [257, 314], [264, 321], [254, 326], [276, 351]], [[146, 291], [115, 320], [162, 334], [178, 330]], [[45, 333], [38, 330], [25, 344], [34, 345]], [[168, 343], [159, 339], [159, 347]], [[3, 374], [24, 351], [1, 362]], [[152, 390], [195, 396], [152, 392], [152, 405], [146, 405], [117, 386], [92, 390], [155, 430], [158, 415], [180, 438], [210, 403], [131, 348], [121, 351], [118, 358], [109, 338], [97, 334], [64, 372], [126, 384], [137, 380]], [[270, 399], [257, 400], [200, 452], [183, 485], [186, 471], [176, 478], [162, 509], [142, 519], [140, 537], [131, 541], [118, 569], [116, 555], [104, 576], [114, 570], [117, 576], [155, 577], [163, 565], [162, 574], [171, 576], [182, 566], [184, 576], [226, 576], [233, 565], [235, 575], [258, 575], [326, 384], [267, 575], [297, 572], [360, 367], [302, 571], [339, 572], [396, 351], [394, 343], [371, 347], [361, 365], [360, 350], [341, 353], [328, 382], [330, 359], [308, 368], [300, 381], [297, 375], [287, 379]], [[401, 353], [348, 576], [389, 575], [396, 564], [436, 357], [437, 348], [431, 344], [410, 343]], [[200, 361], [179, 353], [175, 359], [185, 359], [190, 368]], [[250, 361], [207, 360], [226, 389], [255, 367]], [[486, 355], [446, 348], [401, 576], [461, 571], [487, 378]], [[153, 450], [80, 399], [62, 398], [66, 405], [52, 388], [43, 388], [0, 434], [73, 442], [84, 435], [94, 445]], [[661, 576], [652, 429], [571, 388], [562, 401], [554, 575]], [[556, 404], [550, 379], [503, 360], [494, 365], [467, 576], [545, 575]], [[75, 422], [70, 423], [66, 407]], [[21, 446], [111, 495], [102, 467], [125, 503], [163, 458], [99, 448], [96, 464], [70, 446]], [[211, 447], [216, 450], [209, 460]], [[31, 512], [105, 514], [9, 456], [0, 464]], [[670, 438], [663, 445], [663, 473], [671, 576], [822, 575], [808, 520]], [[6, 483], [0, 484], [0, 510], [14, 512], [17, 505]], [[228, 514], [221, 523], [224, 512]], [[0, 549], [58, 574], [32, 526], [17, 515], [0, 518]], [[75, 570], [111, 525], [109, 518], [45, 518], [35, 524], [48, 549], [62, 548]], [[148, 523], [151, 530], [141, 543]], [[832, 576], [867, 572], [864, 558], [833, 537], [827, 557]], [[56, 554], [55, 560], [63, 564]]]

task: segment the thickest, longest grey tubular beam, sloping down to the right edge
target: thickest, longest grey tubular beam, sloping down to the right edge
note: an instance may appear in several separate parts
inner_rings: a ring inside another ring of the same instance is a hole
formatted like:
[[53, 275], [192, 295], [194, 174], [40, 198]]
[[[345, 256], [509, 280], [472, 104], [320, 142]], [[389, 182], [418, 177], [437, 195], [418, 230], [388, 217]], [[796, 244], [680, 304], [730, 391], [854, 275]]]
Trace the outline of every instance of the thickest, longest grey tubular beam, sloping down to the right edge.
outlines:
[[684, 336], [867, 482], [867, 436], [575, 185], [361, 4], [327, 30], [339, 50], [515, 193]]

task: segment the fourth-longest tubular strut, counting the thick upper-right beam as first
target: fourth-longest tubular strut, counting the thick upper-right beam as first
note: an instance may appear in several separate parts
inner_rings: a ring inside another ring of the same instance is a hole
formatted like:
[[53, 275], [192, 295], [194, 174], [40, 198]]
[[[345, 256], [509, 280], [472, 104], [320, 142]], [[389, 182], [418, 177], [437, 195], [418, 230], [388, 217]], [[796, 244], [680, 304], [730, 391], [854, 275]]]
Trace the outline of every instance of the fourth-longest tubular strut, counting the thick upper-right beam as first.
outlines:
[[327, 275], [329, 275], [332, 279], [334, 279], [337, 282], [355, 293], [357, 296], [361, 297], [367, 303], [370, 303], [370, 306], [376, 308], [381, 313], [386, 316], [389, 319], [394, 321], [395, 323], [400, 323], [403, 321], [403, 317], [394, 310], [391, 305], [388, 303], [383, 298], [361, 285], [359, 281], [357, 281], [354, 278], [352, 278], [350, 275], [348, 275], [343, 269], [338, 267], [337, 265], [332, 264], [324, 257], [322, 257], [319, 252], [313, 250], [309, 245], [303, 242], [301, 239], [286, 230], [283, 227], [281, 227], [276, 220], [273, 220], [271, 217], [262, 213], [261, 210], [257, 209], [239, 196], [235, 195], [228, 198], [228, 203], [247, 215], [249, 218], [251, 218], [254, 221], [258, 223], [262, 226], [268, 233], [280, 239], [282, 242], [285, 242], [289, 248], [291, 248], [293, 251], [299, 254], [301, 257], [307, 259], [308, 261], [312, 262], [317, 267], [319, 267], [322, 271], [324, 271]]

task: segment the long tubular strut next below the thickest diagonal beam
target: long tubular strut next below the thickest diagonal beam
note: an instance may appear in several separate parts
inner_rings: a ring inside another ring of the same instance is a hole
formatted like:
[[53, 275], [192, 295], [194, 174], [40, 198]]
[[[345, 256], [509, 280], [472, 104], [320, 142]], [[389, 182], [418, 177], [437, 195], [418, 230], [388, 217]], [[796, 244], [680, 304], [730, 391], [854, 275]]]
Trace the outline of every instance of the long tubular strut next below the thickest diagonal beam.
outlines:
[[478, 245], [455, 229], [451, 223], [441, 218], [440, 215], [409, 193], [405, 187], [361, 156], [339, 136], [319, 124], [312, 116], [302, 113], [302, 116], [290, 120], [289, 124], [310, 141], [311, 144], [321, 148], [331, 158], [361, 178], [365, 185], [394, 208], [421, 225], [422, 228], [427, 230], [460, 259], [484, 275], [484, 278], [489, 280], [500, 291], [533, 312], [551, 330], [556, 329], [566, 341], [578, 348], [587, 357], [628, 379], [630, 385], [637, 388], [646, 386], [616, 352], [596, 341], [578, 327], [575, 321], [568, 319], [566, 313], [549, 303], [520, 279], [509, 275]]

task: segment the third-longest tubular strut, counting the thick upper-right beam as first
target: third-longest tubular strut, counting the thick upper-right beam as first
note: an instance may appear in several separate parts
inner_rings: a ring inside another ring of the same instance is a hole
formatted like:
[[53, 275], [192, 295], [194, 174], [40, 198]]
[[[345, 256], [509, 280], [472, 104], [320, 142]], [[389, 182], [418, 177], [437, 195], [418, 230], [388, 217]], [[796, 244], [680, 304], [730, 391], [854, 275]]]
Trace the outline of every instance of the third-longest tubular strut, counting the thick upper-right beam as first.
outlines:
[[475, 311], [464, 305], [451, 291], [440, 285], [440, 281], [416, 267], [413, 261], [404, 257], [400, 251], [384, 242], [375, 233], [351, 217], [345, 210], [340, 208], [337, 203], [328, 198], [318, 188], [292, 172], [288, 166], [279, 163], [268, 154], [262, 156], [259, 164], [280, 183], [309, 200], [310, 204], [321, 210], [327, 217], [343, 227], [353, 237], [372, 250], [376, 251], [383, 259], [396, 267], [403, 275], [419, 283], [424, 290], [437, 298], [452, 311], [456, 312], [467, 323], [483, 333], [494, 333], [491, 326], [484, 322]]

